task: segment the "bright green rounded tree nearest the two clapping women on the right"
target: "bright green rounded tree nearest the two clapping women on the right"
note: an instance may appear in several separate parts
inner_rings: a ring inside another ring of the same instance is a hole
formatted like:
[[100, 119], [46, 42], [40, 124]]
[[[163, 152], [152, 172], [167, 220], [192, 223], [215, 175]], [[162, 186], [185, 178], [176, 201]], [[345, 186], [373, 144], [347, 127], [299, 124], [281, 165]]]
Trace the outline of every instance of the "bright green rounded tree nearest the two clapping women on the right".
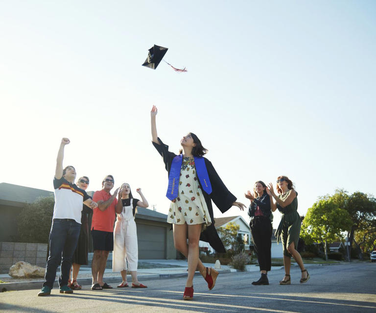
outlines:
[[308, 209], [303, 220], [302, 232], [305, 238], [324, 242], [325, 259], [328, 260], [327, 245], [341, 232], [351, 227], [352, 220], [349, 213], [338, 207], [333, 201], [320, 199]]

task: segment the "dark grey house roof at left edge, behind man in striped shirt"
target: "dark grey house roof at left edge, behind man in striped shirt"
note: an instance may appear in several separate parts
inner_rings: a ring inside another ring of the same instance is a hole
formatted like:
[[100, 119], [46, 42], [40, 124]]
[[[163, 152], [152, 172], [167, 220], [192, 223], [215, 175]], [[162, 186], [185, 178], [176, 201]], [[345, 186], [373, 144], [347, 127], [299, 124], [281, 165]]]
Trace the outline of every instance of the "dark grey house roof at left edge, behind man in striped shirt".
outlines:
[[43, 189], [0, 183], [0, 200], [2, 201], [32, 203], [41, 196], [48, 197], [51, 195], [53, 195], [53, 192]]

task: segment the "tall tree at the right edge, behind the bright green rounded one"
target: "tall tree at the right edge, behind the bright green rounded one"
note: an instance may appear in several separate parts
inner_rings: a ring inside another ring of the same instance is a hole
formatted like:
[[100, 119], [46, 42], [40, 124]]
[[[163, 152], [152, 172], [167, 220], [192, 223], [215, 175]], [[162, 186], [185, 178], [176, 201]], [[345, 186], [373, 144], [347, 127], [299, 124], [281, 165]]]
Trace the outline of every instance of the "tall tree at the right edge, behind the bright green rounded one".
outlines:
[[356, 236], [357, 239], [355, 239], [355, 234], [376, 227], [376, 199], [373, 195], [360, 192], [349, 195], [343, 189], [337, 189], [332, 196], [326, 195], [323, 198], [331, 199], [338, 207], [345, 209], [350, 214], [352, 224], [347, 229], [348, 240], [350, 246], [353, 243], [356, 246], [359, 259], [363, 259], [362, 250], [357, 242], [360, 237]]

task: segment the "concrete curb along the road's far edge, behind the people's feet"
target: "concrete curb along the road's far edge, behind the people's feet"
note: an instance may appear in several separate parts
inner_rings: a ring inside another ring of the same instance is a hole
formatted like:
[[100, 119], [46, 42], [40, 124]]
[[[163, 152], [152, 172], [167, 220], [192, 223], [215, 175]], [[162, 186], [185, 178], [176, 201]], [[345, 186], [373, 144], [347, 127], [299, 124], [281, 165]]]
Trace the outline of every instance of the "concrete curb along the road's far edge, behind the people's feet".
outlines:
[[[228, 274], [232, 273], [234, 270], [233, 269], [223, 269], [223, 270], [218, 270], [219, 273], [221, 274]], [[235, 270], [237, 271], [237, 270]], [[234, 271], [234, 272], [235, 272]], [[199, 272], [196, 272], [194, 274], [195, 276], [201, 274]], [[146, 274], [146, 275], [138, 275], [138, 278], [140, 280], [155, 280], [155, 279], [169, 279], [169, 278], [179, 278], [179, 277], [187, 277], [188, 273], [176, 273], [176, 274]], [[121, 276], [109, 276], [109, 277], [104, 277], [104, 280], [106, 283], [112, 284], [112, 283], [118, 283], [121, 281]], [[29, 290], [29, 289], [41, 289], [42, 285], [45, 281], [44, 280], [39, 280], [39, 281], [33, 281], [33, 282], [19, 282], [19, 283], [2, 283], [0, 284], [0, 292], [4, 291], [18, 291], [18, 290]], [[77, 282], [81, 286], [87, 286], [87, 285], [92, 285], [92, 279], [91, 278], [82, 278], [82, 279], [77, 279]], [[59, 288], [59, 282], [55, 280], [53, 283], [53, 288]], [[116, 289], [116, 287], [114, 288]]]

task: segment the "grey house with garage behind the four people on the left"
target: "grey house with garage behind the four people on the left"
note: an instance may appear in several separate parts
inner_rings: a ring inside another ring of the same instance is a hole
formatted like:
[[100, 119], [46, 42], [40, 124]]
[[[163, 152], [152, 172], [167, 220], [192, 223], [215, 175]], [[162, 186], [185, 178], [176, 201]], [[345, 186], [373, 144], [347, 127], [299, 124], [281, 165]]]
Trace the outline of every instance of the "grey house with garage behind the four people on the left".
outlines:
[[[93, 194], [94, 192], [88, 192]], [[28, 252], [20, 252], [24, 246], [46, 245], [41, 243], [14, 243], [18, 236], [17, 219], [25, 203], [33, 203], [39, 197], [53, 196], [53, 192], [19, 185], [0, 183], [0, 265], [6, 265], [18, 261], [18, 258], [25, 258]], [[52, 216], [51, 208], [51, 216]], [[166, 222], [165, 214], [138, 208], [135, 221], [137, 225], [137, 236], [139, 243], [139, 259], [176, 259], [176, 249], [171, 231], [171, 224]], [[115, 222], [115, 218], [114, 218]], [[89, 219], [89, 227], [91, 219]], [[23, 247], [21, 247], [23, 246]], [[11, 252], [14, 247], [14, 253]], [[33, 246], [33, 249], [35, 247]], [[43, 254], [43, 263], [46, 262], [46, 249]], [[93, 251], [92, 237], [89, 236], [89, 252]], [[42, 264], [41, 260], [37, 261]], [[5, 264], [4, 263], [4, 264]], [[8, 267], [9, 268], [9, 267]]]

